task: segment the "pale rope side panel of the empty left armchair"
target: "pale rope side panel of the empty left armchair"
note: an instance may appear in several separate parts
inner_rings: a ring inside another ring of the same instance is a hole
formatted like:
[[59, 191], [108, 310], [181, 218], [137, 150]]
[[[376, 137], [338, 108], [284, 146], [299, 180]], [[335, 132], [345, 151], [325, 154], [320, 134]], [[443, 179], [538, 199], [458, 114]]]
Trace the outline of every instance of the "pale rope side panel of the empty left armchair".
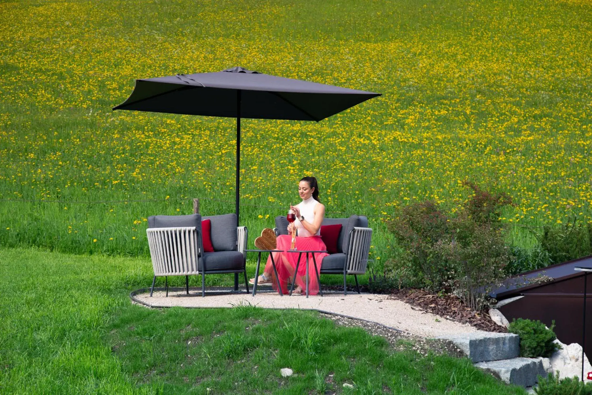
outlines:
[[146, 230], [156, 276], [200, 274], [200, 248], [195, 227], [149, 228]]

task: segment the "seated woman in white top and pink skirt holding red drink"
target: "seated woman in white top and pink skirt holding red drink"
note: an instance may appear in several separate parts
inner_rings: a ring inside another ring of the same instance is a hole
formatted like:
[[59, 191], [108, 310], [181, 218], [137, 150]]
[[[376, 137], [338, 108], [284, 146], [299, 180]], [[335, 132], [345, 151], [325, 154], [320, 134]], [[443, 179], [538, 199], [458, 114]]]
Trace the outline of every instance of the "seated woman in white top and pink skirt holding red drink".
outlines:
[[[288, 235], [279, 235], [276, 240], [277, 249], [284, 252], [273, 253], [279, 278], [275, 278], [271, 258], [268, 258], [263, 274], [257, 280], [258, 284], [273, 284], [274, 290], [278, 290], [278, 287], [280, 287], [284, 294], [288, 293], [287, 283], [294, 278], [298, 255], [300, 255], [297, 252], [287, 252], [292, 243], [292, 232], [297, 230], [296, 248], [299, 251], [325, 251], [327, 249], [320, 236], [321, 223], [325, 216], [325, 206], [318, 201], [317, 179], [314, 177], [301, 179], [298, 183], [298, 194], [302, 198], [301, 203], [290, 206], [292, 212], [296, 214], [296, 220], [288, 225]], [[324, 252], [314, 254], [318, 271], [321, 269], [321, 261], [327, 255], [329, 254]], [[255, 278], [252, 278], [250, 282], [255, 282]], [[300, 258], [300, 265], [298, 265], [298, 274], [292, 294], [301, 295], [304, 293], [305, 288], [306, 254], [303, 253]], [[318, 293], [317, 274], [314, 272], [313, 259], [310, 255], [308, 259], [308, 293], [310, 295]]]

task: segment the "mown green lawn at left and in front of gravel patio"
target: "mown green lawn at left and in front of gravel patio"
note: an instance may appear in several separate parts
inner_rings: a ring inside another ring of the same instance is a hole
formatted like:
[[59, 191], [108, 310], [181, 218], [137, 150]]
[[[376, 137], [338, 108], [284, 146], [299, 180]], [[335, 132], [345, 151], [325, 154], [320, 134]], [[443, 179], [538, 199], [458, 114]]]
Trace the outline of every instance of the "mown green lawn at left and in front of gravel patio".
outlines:
[[0, 393], [525, 394], [310, 311], [131, 304], [150, 275], [146, 258], [1, 249]]

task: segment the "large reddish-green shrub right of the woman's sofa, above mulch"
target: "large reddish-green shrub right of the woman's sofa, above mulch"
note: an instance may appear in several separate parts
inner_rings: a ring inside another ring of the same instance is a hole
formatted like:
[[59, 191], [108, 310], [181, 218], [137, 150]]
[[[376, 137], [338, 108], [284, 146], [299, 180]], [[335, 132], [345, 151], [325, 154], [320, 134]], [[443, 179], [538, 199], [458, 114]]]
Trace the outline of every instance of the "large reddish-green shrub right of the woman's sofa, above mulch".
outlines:
[[481, 310], [489, 287], [506, 277], [510, 251], [499, 221], [506, 194], [474, 192], [456, 216], [448, 216], [433, 202], [404, 207], [388, 229], [404, 252], [390, 262], [393, 274], [431, 291], [453, 290], [472, 309]]

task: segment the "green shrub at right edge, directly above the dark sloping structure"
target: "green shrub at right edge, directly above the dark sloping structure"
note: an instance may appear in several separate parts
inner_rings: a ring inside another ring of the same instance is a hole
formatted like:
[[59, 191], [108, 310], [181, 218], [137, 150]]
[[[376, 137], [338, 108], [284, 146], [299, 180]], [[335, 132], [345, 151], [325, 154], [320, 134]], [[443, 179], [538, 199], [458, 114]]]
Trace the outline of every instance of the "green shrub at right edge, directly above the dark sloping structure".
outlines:
[[581, 223], [574, 217], [559, 227], [547, 225], [543, 227], [540, 245], [554, 264], [591, 255], [592, 223]]

